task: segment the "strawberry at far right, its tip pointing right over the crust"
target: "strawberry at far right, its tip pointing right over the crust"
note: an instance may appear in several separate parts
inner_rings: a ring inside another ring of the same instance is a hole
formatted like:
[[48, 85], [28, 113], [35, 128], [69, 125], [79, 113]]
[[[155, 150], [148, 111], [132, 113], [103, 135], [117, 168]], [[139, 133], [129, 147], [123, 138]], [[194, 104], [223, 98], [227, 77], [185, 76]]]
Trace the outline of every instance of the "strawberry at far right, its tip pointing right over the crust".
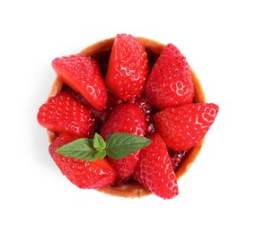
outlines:
[[154, 115], [156, 131], [174, 151], [187, 151], [207, 134], [218, 112], [216, 104], [192, 103]]

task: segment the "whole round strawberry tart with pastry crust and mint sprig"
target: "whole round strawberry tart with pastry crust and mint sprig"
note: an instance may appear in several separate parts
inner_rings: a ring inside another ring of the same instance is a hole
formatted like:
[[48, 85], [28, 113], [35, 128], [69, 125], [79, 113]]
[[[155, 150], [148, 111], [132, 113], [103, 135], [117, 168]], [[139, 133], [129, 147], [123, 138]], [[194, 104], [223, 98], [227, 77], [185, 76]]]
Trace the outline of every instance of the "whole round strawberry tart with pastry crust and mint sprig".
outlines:
[[37, 118], [61, 172], [116, 196], [179, 194], [218, 112], [180, 50], [119, 34], [52, 66], [57, 78]]

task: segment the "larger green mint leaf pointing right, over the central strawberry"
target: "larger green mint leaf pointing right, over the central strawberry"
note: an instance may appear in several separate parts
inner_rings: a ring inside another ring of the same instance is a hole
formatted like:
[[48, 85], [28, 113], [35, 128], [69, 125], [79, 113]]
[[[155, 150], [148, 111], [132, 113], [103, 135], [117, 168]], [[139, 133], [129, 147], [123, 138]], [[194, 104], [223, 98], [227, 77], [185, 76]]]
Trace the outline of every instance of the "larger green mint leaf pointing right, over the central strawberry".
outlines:
[[114, 160], [119, 160], [129, 154], [138, 151], [152, 141], [146, 137], [133, 134], [116, 133], [111, 134], [106, 141], [107, 154]]

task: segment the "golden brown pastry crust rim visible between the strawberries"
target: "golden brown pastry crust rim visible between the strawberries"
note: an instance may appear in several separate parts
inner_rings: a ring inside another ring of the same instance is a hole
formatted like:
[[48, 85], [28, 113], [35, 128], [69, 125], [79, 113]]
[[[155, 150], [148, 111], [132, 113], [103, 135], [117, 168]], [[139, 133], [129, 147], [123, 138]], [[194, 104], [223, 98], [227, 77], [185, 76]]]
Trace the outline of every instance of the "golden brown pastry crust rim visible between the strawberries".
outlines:
[[[157, 41], [154, 41], [153, 39], [146, 39], [146, 38], [137, 38], [137, 39], [140, 40], [140, 42], [144, 47], [154, 52], [154, 54], [160, 55], [163, 50], [163, 47], [165, 47], [165, 45]], [[113, 45], [113, 42], [114, 42], [114, 38], [103, 39], [89, 47], [84, 48], [84, 50], [82, 50], [80, 53], [84, 54], [85, 56], [93, 56], [100, 52], [109, 51]], [[202, 86], [199, 82], [199, 79], [196, 73], [194, 73], [192, 69], [191, 69], [191, 74], [192, 74], [194, 87], [195, 87], [195, 101], [198, 103], [206, 102], [205, 94], [202, 89]], [[49, 97], [55, 96], [59, 91], [61, 91], [62, 86], [63, 86], [63, 82], [61, 82], [60, 79], [57, 77], [52, 84], [51, 90], [49, 92]], [[49, 142], [53, 142], [54, 139], [57, 137], [55, 133], [50, 132], [49, 130], [48, 130], [48, 135], [49, 135]], [[204, 138], [201, 139], [201, 141], [191, 149], [190, 153], [188, 154], [188, 157], [186, 158], [186, 160], [183, 161], [183, 163], [181, 164], [181, 167], [176, 172], [177, 179], [180, 179], [188, 171], [188, 169], [193, 164], [193, 162], [197, 159], [199, 155], [199, 151], [203, 145], [203, 142], [204, 142]], [[144, 186], [141, 186], [137, 183], [128, 184], [120, 187], [101, 188], [101, 189], [98, 189], [98, 191], [105, 194], [121, 196], [121, 197], [129, 197], [129, 198], [141, 197], [141, 196], [151, 194], [149, 191], [146, 190]]]

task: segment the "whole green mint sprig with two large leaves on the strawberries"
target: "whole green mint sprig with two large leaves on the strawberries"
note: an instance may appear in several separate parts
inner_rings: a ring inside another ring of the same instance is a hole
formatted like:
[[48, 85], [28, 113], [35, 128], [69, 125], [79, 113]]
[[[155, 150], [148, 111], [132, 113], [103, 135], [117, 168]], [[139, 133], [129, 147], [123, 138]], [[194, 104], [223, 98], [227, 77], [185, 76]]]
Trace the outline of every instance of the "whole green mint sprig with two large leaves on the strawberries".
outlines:
[[151, 142], [146, 137], [125, 133], [111, 134], [105, 142], [102, 136], [96, 133], [93, 139], [80, 138], [66, 143], [56, 151], [59, 154], [77, 160], [94, 161], [103, 159], [106, 155], [114, 160], [119, 160], [135, 151], [145, 148]]

